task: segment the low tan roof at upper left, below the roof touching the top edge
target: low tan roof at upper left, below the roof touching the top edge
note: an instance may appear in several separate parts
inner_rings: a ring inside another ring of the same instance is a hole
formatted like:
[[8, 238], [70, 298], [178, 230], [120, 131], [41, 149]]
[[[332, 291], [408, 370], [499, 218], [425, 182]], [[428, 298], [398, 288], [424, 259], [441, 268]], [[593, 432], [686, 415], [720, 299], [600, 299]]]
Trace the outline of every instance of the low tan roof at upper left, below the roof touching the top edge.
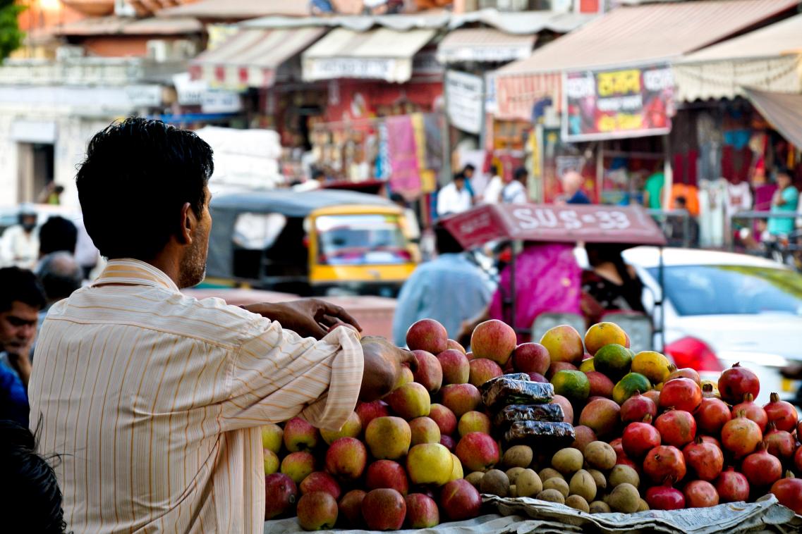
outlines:
[[200, 34], [196, 18], [91, 17], [55, 28], [55, 35], [178, 35]]

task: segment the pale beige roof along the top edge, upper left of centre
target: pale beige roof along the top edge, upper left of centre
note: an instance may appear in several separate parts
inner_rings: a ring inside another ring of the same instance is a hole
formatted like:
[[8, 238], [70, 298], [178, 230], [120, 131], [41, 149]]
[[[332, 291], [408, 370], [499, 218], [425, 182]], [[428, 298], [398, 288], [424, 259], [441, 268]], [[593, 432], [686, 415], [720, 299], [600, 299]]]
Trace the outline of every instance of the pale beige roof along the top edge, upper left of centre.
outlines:
[[306, 17], [309, 14], [309, 2], [300, 0], [201, 0], [160, 10], [158, 16], [245, 20], [269, 15]]

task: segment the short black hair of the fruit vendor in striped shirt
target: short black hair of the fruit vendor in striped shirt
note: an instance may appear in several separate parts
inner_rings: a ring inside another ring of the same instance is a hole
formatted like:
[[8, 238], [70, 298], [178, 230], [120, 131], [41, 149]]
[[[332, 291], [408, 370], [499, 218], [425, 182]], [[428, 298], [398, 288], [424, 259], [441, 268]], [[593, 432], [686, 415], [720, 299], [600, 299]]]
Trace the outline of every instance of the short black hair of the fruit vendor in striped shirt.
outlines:
[[153, 259], [205, 206], [212, 148], [164, 122], [126, 118], [95, 134], [75, 180], [87, 233], [107, 258]]

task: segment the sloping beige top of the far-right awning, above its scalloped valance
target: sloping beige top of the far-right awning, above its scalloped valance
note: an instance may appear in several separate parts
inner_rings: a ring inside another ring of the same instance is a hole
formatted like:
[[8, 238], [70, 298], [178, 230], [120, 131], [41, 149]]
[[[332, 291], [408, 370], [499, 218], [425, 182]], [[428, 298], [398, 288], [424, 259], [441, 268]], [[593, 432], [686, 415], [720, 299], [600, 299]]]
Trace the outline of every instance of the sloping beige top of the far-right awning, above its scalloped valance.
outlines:
[[681, 63], [774, 58], [802, 52], [802, 14], [760, 28], [681, 59]]

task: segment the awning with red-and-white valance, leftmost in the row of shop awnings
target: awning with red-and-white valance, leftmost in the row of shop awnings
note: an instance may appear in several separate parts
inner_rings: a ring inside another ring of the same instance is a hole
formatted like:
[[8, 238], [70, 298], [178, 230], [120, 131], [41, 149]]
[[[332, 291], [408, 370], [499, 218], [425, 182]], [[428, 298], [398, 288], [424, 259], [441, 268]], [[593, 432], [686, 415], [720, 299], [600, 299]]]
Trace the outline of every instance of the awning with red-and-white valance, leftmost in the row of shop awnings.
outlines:
[[276, 70], [316, 41], [326, 28], [239, 30], [213, 50], [192, 60], [192, 79], [238, 89], [273, 86]]

